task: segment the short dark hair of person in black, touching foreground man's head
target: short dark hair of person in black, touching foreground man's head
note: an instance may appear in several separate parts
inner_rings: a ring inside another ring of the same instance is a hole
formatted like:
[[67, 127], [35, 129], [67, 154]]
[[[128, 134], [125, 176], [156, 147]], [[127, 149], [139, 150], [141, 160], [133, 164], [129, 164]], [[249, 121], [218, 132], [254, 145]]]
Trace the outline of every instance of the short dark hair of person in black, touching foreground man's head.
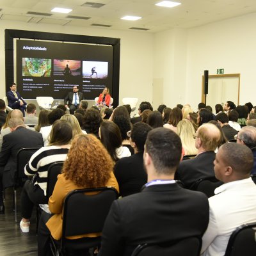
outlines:
[[138, 152], [144, 151], [144, 145], [147, 140], [148, 132], [152, 130], [148, 124], [143, 122], [135, 123], [131, 131], [131, 140], [136, 144]]

